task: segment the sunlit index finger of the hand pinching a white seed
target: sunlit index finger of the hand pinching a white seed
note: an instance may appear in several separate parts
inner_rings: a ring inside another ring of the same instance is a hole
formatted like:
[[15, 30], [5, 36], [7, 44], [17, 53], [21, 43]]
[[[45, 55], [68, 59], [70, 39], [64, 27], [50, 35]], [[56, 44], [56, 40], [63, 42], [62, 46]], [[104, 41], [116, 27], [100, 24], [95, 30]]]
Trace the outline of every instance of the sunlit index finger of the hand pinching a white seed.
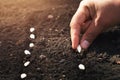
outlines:
[[80, 42], [80, 33], [81, 33], [81, 25], [85, 22], [86, 13], [88, 13], [86, 6], [80, 5], [75, 15], [73, 16], [70, 27], [71, 27], [71, 41], [72, 48], [76, 49]]

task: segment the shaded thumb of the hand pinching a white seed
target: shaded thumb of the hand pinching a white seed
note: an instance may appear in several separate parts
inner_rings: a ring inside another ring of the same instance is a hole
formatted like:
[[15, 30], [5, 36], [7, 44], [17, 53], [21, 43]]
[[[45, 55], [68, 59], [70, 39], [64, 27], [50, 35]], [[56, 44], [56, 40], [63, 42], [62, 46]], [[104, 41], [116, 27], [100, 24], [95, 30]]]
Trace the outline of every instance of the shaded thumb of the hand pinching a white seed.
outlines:
[[103, 30], [103, 26], [101, 24], [100, 19], [94, 18], [89, 28], [82, 36], [81, 47], [83, 49], [87, 49], [92, 44], [94, 39], [102, 32], [102, 30]]

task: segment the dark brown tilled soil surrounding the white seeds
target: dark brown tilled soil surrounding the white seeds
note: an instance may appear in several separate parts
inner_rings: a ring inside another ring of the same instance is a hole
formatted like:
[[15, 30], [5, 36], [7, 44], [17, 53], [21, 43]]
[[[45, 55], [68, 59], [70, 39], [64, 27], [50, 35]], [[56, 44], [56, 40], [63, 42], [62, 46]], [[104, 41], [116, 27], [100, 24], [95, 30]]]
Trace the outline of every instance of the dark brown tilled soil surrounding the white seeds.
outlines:
[[[79, 0], [0, 0], [0, 80], [119, 80], [120, 28], [102, 33], [82, 54], [71, 48]], [[31, 40], [30, 27], [36, 39]], [[29, 48], [29, 43], [35, 43]], [[24, 50], [31, 55], [25, 55]], [[25, 61], [31, 61], [24, 67]], [[85, 70], [80, 70], [82, 63]]]

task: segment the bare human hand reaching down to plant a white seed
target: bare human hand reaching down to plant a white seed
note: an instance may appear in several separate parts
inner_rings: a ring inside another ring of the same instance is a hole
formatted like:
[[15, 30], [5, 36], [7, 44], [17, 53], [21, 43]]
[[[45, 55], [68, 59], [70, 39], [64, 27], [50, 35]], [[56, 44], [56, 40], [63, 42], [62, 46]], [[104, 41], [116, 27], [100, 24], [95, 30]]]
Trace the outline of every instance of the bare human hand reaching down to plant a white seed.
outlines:
[[71, 22], [72, 48], [87, 49], [104, 30], [120, 23], [120, 0], [83, 0]]

